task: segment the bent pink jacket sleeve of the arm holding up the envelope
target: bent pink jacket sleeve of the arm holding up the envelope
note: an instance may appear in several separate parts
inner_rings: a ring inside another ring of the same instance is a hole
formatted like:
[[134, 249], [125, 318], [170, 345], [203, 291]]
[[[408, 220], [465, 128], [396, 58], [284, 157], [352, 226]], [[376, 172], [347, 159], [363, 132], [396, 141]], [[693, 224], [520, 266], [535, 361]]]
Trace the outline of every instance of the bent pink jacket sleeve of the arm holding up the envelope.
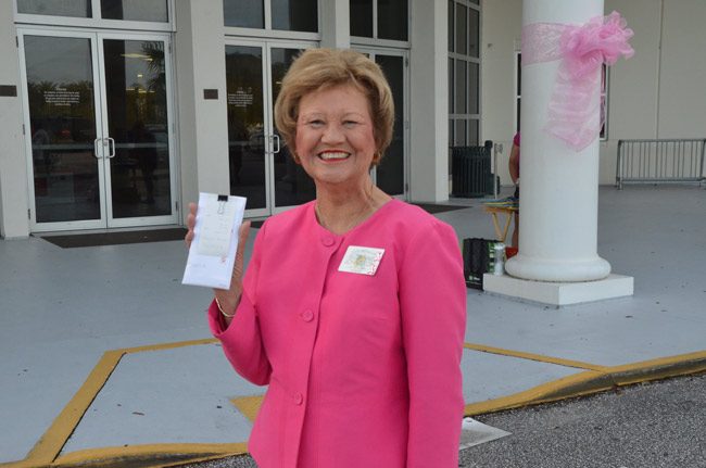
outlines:
[[[266, 224], [265, 224], [266, 225]], [[252, 257], [247, 266], [243, 278], [243, 291], [236, 316], [226, 328], [220, 319], [220, 313], [215, 301], [209, 307], [209, 326], [217, 338], [226, 357], [243, 378], [256, 385], [269, 383], [272, 367], [267, 359], [260, 322], [257, 320], [257, 277], [262, 264], [262, 250], [265, 238], [265, 226], [255, 237]]]

